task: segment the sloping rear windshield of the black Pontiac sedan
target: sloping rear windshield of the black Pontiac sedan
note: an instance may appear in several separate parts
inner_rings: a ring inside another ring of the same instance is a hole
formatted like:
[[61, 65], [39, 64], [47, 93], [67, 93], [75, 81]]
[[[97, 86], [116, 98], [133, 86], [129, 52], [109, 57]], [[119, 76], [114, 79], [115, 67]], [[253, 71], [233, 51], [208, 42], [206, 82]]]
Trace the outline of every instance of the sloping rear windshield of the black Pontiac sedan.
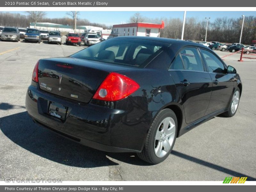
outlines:
[[112, 38], [77, 52], [71, 57], [143, 67], [169, 45], [151, 40]]

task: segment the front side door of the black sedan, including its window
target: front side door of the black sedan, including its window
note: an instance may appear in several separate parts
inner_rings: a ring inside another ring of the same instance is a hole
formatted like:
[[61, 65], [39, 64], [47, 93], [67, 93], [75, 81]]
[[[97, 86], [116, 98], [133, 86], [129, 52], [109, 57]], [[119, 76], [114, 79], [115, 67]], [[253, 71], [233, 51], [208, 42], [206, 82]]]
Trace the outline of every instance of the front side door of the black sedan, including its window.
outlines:
[[203, 48], [200, 49], [200, 52], [212, 79], [211, 100], [205, 113], [208, 115], [228, 107], [234, 81], [232, 74], [227, 73], [227, 67], [219, 57]]

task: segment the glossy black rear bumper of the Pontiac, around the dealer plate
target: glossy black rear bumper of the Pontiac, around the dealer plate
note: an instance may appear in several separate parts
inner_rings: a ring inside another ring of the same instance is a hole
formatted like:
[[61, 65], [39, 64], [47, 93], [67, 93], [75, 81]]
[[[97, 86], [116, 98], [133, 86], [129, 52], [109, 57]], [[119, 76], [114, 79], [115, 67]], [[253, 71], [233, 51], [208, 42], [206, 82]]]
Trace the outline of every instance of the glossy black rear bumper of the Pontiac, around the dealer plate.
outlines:
[[[115, 104], [122, 109], [109, 108], [65, 99], [30, 85], [26, 109], [34, 122], [85, 146], [108, 152], [140, 152], [154, 112], [142, 110], [129, 97], [124, 100]], [[68, 107], [64, 121], [48, 114], [50, 101]]]

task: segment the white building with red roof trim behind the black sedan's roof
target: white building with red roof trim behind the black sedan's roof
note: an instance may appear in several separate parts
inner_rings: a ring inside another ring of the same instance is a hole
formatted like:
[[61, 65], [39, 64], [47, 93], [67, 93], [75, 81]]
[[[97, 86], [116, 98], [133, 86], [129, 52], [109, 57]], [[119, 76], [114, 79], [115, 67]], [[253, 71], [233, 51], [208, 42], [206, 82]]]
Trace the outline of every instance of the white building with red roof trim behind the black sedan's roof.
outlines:
[[164, 28], [164, 21], [156, 23], [127, 23], [113, 25], [114, 36], [148, 36], [160, 37], [160, 29]]

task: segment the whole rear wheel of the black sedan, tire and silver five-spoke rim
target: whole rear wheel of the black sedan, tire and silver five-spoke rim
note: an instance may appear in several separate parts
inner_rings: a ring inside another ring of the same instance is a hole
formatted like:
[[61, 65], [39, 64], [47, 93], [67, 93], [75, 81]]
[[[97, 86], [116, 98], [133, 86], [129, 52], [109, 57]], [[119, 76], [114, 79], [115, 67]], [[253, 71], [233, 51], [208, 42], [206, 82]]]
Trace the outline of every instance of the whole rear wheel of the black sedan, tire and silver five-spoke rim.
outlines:
[[161, 110], [151, 124], [140, 159], [158, 164], [170, 154], [177, 135], [177, 117], [171, 109]]

